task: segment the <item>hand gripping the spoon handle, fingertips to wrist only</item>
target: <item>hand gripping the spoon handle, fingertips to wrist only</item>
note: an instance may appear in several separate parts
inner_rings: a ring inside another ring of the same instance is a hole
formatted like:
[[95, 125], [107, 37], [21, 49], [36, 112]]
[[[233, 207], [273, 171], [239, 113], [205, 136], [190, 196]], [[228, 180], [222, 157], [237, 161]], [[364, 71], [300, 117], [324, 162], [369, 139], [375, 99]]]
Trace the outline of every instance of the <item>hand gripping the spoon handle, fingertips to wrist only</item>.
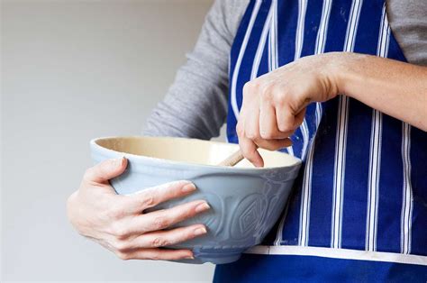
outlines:
[[258, 147], [276, 151], [291, 145], [288, 137], [303, 123], [306, 106], [337, 96], [341, 57], [304, 57], [245, 84], [236, 130], [246, 159], [262, 167]]

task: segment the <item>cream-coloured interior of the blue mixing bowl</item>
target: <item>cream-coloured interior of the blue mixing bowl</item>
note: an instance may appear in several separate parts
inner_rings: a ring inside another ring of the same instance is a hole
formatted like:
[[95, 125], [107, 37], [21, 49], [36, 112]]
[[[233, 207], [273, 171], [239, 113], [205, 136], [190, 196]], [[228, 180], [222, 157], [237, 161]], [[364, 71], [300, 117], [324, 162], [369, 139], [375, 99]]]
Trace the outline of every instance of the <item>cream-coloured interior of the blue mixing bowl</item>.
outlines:
[[[103, 138], [95, 140], [95, 143], [108, 150], [204, 165], [217, 165], [239, 150], [237, 144], [164, 137]], [[299, 162], [295, 157], [278, 151], [259, 149], [259, 153], [265, 168], [291, 166]], [[253, 165], [248, 160], [241, 160], [235, 167], [253, 168]]]

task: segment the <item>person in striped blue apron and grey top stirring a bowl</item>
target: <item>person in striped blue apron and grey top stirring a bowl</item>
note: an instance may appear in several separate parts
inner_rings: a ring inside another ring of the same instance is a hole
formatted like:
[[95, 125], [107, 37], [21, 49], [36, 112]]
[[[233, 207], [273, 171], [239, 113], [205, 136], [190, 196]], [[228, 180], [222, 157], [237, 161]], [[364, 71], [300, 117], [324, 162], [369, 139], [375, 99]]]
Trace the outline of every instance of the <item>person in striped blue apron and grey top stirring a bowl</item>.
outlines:
[[[228, 142], [255, 166], [260, 147], [304, 168], [268, 236], [217, 265], [214, 281], [426, 281], [426, 15], [422, 0], [215, 1], [144, 134], [208, 140], [226, 119]], [[191, 259], [161, 247], [204, 224], [165, 229], [209, 205], [141, 214], [196, 188], [117, 196], [108, 180], [126, 164], [87, 169], [71, 223], [123, 260]]]

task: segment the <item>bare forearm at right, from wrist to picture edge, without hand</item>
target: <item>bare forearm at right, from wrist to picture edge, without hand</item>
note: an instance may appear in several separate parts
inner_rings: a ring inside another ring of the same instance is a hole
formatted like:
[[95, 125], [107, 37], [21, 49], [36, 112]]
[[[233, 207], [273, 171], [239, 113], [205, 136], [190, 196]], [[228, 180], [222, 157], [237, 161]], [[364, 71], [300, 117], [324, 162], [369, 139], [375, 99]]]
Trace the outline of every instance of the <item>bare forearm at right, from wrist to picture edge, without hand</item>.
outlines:
[[343, 54], [339, 93], [427, 131], [427, 68], [392, 59]]

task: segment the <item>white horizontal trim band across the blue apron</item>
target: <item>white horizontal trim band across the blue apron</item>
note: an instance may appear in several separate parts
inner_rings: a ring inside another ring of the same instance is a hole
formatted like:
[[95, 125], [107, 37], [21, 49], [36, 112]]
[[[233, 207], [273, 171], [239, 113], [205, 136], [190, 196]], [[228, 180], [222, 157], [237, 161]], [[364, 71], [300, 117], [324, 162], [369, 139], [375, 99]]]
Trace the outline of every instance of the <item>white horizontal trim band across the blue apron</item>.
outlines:
[[383, 251], [358, 251], [301, 246], [254, 246], [244, 253], [271, 255], [301, 255], [342, 260], [372, 260], [427, 266], [427, 257], [413, 254], [402, 254]]

